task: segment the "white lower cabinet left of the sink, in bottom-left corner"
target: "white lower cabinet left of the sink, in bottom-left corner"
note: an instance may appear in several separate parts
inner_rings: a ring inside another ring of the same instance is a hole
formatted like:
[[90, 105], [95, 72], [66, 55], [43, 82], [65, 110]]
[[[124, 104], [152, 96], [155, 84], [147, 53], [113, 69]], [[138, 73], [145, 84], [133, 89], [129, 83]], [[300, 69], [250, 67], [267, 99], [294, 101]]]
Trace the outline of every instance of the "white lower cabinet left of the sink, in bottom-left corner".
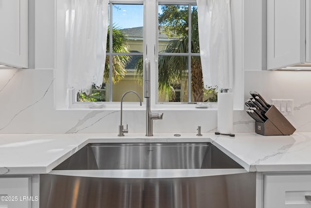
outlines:
[[39, 208], [38, 185], [35, 175], [1, 176], [0, 208]]

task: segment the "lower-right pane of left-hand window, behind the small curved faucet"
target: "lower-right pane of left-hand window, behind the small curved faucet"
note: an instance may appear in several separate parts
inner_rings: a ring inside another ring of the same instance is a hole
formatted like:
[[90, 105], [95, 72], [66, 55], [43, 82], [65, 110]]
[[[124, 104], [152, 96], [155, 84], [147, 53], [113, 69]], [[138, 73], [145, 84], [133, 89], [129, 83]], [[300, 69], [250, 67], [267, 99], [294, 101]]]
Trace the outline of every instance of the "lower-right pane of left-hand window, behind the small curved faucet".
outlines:
[[[114, 83], [112, 101], [120, 102], [122, 95], [129, 90], [136, 91], [143, 99], [142, 56], [113, 56]], [[128, 94], [123, 101], [138, 102], [135, 94]]]

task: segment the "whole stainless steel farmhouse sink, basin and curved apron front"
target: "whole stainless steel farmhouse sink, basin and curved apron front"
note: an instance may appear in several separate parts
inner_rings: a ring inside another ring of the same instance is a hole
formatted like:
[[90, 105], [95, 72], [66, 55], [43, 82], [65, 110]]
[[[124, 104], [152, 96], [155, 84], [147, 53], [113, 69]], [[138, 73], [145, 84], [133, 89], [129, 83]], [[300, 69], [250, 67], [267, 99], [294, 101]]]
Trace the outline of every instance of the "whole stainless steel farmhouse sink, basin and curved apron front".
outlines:
[[255, 208], [256, 174], [211, 143], [92, 143], [40, 175], [40, 208]]

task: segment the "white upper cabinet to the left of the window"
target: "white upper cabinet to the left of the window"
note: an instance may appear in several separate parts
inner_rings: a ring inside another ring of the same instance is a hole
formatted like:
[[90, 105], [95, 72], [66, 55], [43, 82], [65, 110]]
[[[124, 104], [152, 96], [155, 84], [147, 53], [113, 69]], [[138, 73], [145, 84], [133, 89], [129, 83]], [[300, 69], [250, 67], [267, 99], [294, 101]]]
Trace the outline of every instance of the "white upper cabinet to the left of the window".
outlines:
[[28, 0], [0, 0], [0, 64], [28, 68]]

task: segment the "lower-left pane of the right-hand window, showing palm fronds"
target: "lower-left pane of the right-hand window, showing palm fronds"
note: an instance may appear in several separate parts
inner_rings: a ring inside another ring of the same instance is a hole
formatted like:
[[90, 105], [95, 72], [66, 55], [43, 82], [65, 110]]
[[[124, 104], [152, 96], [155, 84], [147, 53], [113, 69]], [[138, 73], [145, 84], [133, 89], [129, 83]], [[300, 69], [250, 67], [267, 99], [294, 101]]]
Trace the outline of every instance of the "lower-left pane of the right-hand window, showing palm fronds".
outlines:
[[188, 102], [188, 57], [159, 56], [158, 101]]

